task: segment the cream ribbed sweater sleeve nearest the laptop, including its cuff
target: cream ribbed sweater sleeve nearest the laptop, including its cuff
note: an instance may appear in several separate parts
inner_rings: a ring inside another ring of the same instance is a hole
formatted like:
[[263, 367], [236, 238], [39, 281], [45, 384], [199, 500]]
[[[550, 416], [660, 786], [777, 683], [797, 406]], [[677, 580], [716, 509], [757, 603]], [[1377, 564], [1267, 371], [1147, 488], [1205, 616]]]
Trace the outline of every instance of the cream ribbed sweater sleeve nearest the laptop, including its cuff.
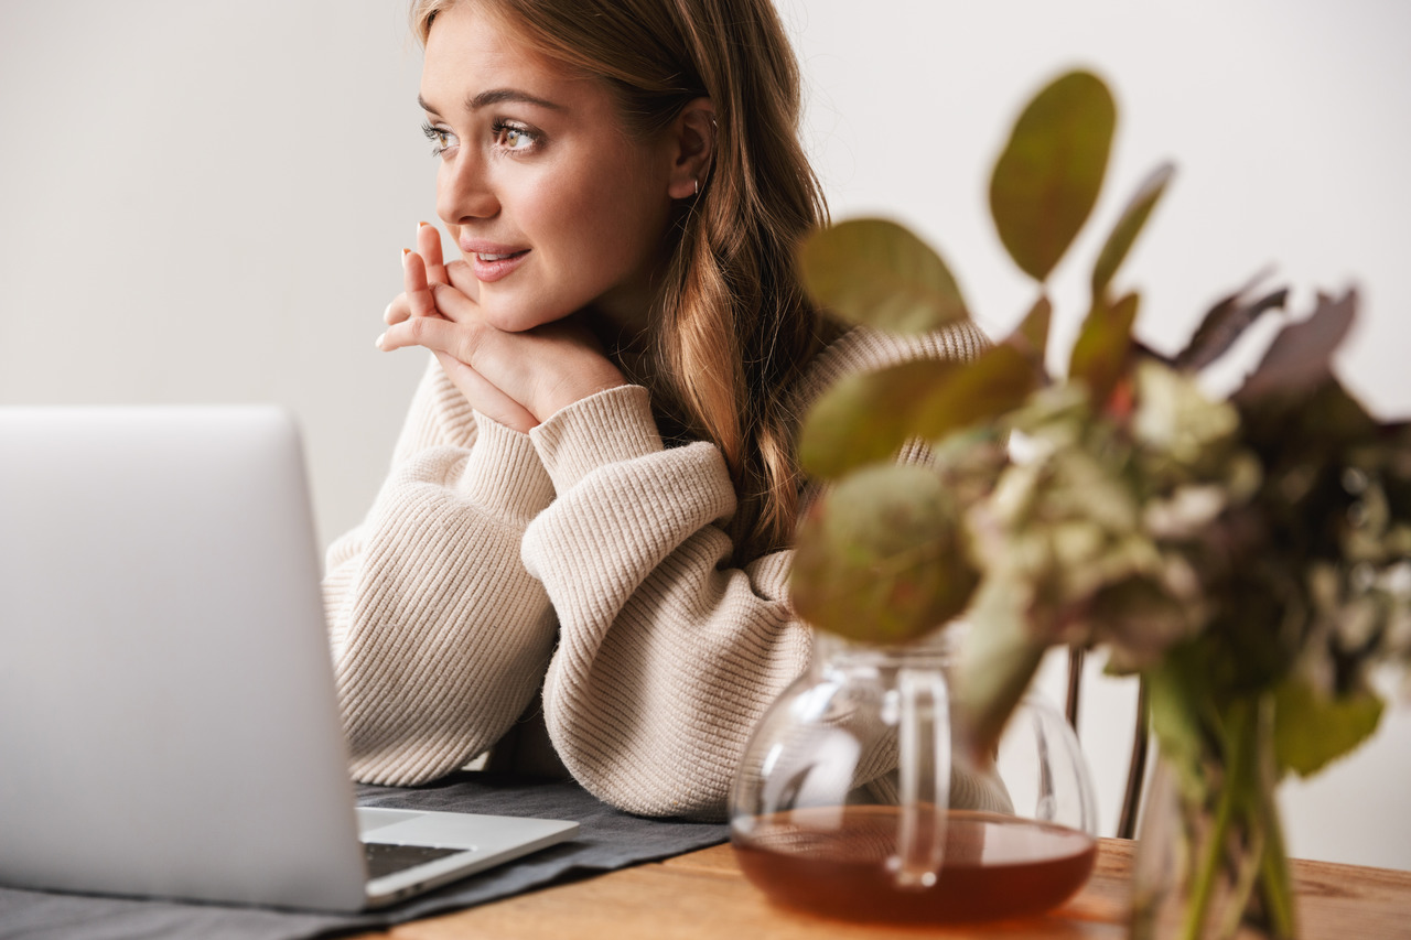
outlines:
[[327, 555], [325, 605], [358, 781], [411, 785], [494, 744], [555, 639], [519, 560], [553, 498], [526, 435], [470, 411], [432, 360], [363, 525]]

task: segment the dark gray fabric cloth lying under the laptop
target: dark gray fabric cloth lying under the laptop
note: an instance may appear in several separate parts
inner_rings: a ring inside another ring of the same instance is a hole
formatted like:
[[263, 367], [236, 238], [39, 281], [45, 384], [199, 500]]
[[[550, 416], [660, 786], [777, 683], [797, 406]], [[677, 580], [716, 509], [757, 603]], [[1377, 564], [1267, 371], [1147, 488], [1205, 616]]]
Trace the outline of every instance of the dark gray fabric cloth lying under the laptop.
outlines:
[[727, 827], [718, 823], [642, 819], [622, 813], [598, 802], [573, 781], [545, 782], [467, 772], [419, 788], [361, 786], [358, 803], [570, 819], [579, 821], [581, 830], [570, 843], [552, 845], [396, 906], [353, 916], [0, 888], [0, 937], [295, 940], [373, 930], [559, 881], [667, 858], [727, 838]]

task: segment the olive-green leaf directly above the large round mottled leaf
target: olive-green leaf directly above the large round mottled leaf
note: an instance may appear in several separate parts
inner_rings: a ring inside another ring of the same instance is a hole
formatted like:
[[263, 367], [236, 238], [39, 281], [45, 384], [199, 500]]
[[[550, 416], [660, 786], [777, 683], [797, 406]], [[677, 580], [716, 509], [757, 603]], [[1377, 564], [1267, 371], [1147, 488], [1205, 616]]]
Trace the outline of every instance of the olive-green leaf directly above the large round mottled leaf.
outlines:
[[917, 402], [959, 363], [920, 360], [838, 380], [814, 402], [799, 436], [799, 462], [817, 477], [837, 478], [889, 460], [907, 438]]

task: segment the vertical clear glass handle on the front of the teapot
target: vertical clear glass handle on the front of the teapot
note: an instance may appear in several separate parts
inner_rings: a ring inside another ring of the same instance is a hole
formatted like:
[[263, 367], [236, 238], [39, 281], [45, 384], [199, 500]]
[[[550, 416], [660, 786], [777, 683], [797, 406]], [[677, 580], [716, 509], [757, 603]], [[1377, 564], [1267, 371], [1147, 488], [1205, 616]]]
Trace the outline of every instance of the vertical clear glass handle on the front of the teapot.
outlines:
[[900, 817], [896, 854], [889, 860], [900, 889], [935, 885], [945, 861], [945, 823], [951, 805], [951, 716], [945, 673], [903, 666], [897, 783]]

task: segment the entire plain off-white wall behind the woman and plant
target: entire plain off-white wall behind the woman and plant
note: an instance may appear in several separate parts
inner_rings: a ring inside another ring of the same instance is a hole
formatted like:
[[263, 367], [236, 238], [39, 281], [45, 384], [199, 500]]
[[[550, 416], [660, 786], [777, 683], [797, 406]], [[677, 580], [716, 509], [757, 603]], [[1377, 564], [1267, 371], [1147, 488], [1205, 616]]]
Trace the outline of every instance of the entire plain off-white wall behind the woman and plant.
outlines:
[[[1141, 289], [1139, 332], [1177, 349], [1270, 265], [1298, 315], [1355, 284], [1339, 370], [1374, 411], [1411, 414], [1411, 6], [779, 7], [834, 216], [913, 226], [992, 335], [1033, 288], [988, 222], [989, 168], [1022, 103], [1084, 66], [1120, 119], [1094, 230], [1054, 279], [1057, 344], [1101, 233], [1171, 159], [1119, 275]], [[435, 219], [419, 68], [402, 0], [0, 0], [0, 402], [281, 402], [320, 538], [357, 524], [425, 364], [373, 346], [401, 248]], [[1130, 711], [1129, 683], [1099, 682], [1082, 723], [1109, 830]], [[1285, 786], [1292, 852], [1411, 868], [1407, 741], [1401, 706], [1357, 755]]]

